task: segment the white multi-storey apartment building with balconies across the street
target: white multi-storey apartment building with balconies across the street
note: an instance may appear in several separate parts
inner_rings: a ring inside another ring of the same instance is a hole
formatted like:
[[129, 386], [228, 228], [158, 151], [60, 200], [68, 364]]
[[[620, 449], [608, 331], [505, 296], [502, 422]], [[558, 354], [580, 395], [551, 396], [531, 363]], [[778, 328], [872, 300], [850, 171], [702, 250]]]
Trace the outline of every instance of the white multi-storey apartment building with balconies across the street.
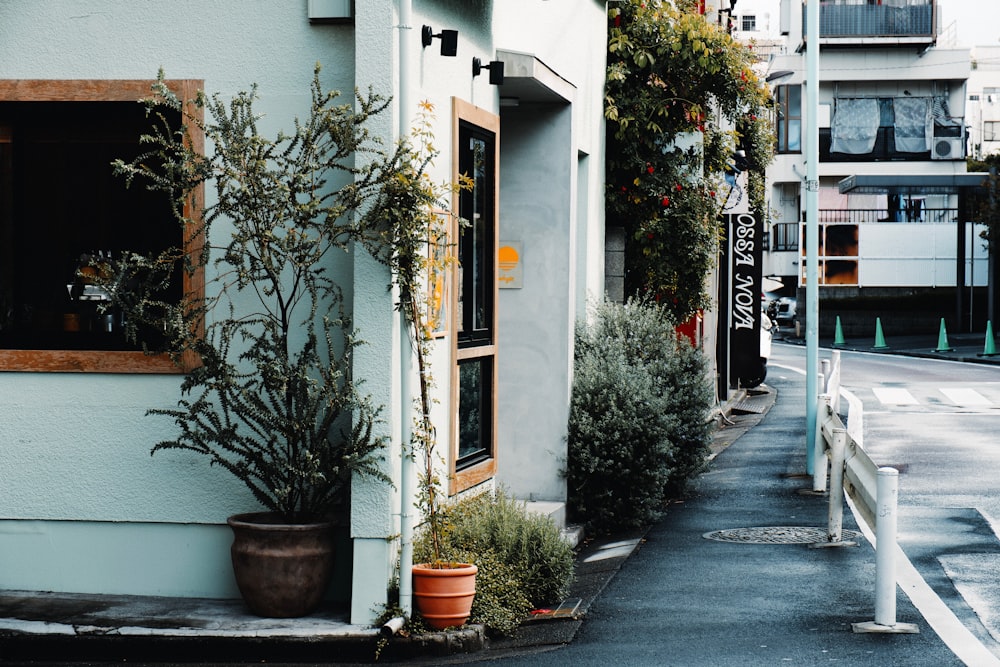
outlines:
[[[804, 35], [805, 2], [780, 7], [789, 53], [769, 67], [778, 154], [768, 272], [804, 285], [803, 134], [816, 123], [820, 334], [832, 335], [837, 315], [858, 333], [873, 331], [876, 316], [899, 332], [935, 331], [942, 317], [981, 326], [984, 309], [970, 293], [986, 285], [986, 252], [961, 210], [967, 186], [979, 184], [965, 165], [968, 49], [938, 44], [936, 0], [819, 7], [818, 39]], [[820, 82], [810, 118], [805, 50], [814, 44]]]

